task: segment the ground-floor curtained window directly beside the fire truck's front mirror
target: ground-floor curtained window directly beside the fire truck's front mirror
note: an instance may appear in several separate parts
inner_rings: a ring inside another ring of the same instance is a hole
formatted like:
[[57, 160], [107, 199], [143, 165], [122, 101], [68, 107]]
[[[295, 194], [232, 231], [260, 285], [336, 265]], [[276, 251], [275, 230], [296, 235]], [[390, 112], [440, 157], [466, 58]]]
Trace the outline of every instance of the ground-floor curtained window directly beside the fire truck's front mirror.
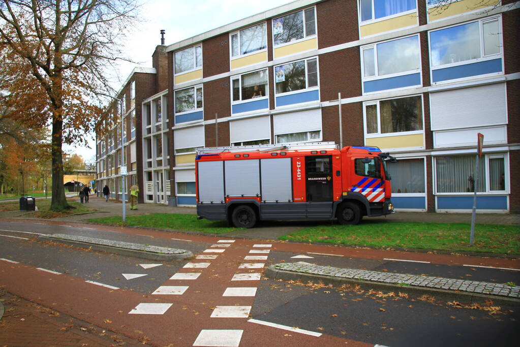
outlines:
[[424, 193], [424, 158], [399, 159], [386, 162], [386, 170], [392, 177], [392, 193]]

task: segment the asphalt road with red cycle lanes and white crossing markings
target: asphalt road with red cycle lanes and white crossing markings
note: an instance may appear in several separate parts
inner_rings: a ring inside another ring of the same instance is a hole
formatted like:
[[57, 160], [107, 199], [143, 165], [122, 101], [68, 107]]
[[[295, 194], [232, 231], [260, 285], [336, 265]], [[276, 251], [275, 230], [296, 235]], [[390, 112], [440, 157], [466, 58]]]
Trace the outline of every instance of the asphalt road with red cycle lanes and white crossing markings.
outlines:
[[[461, 266], [467, 262], [477, 264], [476, 259], [470, 257], [451, 262], [444, 261], [448, 258], [436, 258], [443, 260], [438, 261], [440, 263], [404, 262], [385, 260], [397, 257], [386, 252], [381, 252], [378, 257], [374, 252], [312, 245], [272, 243], [268, 247], [271, 243], [243, 239], [224, 247], [222, 244], [226, 243], [218, 244], [222, 238], [214, 236], [77, 225], [0, 221], [0, 258], [18, 262], [0, 261], [0, 285], [23, 298], [106, 329], [132, 338], [146, 336], [150, 343], [157, 345], [192, 345], [203, 330], [214, 329], [242, 330], [241, 346], [489, 346], [512, 344], [520, 337], [520, 332], [515, 329], [519, 314], [516, 309], [505, 306], [484, 310], [459, 307], [456, 303], [449, 304], [436, 298], [420, 300], [411, 296], [401, 297], [399, 293], [374, 293], [367, 289], [341, 290], [258, 278], [231, 281], [236, 273], [261, 273], [271, 263], [305, 261], [478, 281], [520, 282], [518, 271]], [[217, 257], [165, 262], [147, 268], [141, 264], [154, 262], [34, 241], [37, 234], [50, 233], [183, 248], [195, 256]], [[223, 251], [215, 252], [215, 249]], [[258, 253], [258, 250], [264, 252]], [[245, 257], [251, 256], [267, 259], [246, 260]], [[294, 256], [311, 258], [292, 258]], [[420, 256], [423, 260], [417, 261], [427, 261], [425, 255]], [[479, 264], [507, 263], [505, 260], [480, 258], [478, 261]], [[208, 265], [206, 268], [185, 268], [188, 263]], [[244, 263], [263, 265], [241, 268]], [[200, 275], [196, 280], [171, 279], [177, 273]], [[142, 276], [131, 278], [130, 275]], [[187, 288], [182, 295], [154, 294], [162, 286]], [[257, 289], [251, 297], [223, 296], [228, 288], [237, 287]], [[140, 303], [172, 305], [164, 314], [131, 314]], [[244, 306], [250, 311], [245, 317], [211, 317], [218, 306]], [[248, 318], [276, 323], [281, 327], [248, 322]], [[305, 332], [283, 330], [283, 327], [298, 327], [323, 335], [316, 337]]]

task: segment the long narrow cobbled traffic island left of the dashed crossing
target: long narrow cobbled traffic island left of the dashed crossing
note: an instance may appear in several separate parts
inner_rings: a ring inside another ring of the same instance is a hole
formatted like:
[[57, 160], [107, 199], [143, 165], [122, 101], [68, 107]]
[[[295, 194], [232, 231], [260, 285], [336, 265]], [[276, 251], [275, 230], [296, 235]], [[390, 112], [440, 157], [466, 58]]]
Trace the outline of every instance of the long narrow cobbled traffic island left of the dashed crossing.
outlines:
[[183, 260], [193, 256], [186, 249], [148, 246], [122, 241], [112, 241], [102, 238], [93, 238], [66, 234], [50, 234], [38, 236], [38, 241], [57, 242], [66, 245], [79, 246], [98, 251], [106, 251], [122, 256], [136, 257], [148, 260]]

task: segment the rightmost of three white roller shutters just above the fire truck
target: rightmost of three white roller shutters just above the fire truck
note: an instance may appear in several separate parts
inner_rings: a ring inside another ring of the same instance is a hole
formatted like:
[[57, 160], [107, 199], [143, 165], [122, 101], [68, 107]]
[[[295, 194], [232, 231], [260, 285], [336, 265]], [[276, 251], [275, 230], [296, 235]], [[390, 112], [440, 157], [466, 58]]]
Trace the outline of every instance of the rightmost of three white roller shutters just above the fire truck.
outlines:
[[277, 114], [274, 128], [275, 135], [321, 130], [321, 109]]

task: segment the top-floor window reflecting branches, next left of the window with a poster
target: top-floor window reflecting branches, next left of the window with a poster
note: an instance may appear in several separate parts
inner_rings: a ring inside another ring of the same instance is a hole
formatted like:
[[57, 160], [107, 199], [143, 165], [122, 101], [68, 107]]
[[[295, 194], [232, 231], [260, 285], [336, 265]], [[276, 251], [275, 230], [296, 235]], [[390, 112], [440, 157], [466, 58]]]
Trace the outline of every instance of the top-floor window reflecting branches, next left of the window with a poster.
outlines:
[[251, 26], [231, 34], [231, 57], [245, 55], [266, 48], [266, 23]]

